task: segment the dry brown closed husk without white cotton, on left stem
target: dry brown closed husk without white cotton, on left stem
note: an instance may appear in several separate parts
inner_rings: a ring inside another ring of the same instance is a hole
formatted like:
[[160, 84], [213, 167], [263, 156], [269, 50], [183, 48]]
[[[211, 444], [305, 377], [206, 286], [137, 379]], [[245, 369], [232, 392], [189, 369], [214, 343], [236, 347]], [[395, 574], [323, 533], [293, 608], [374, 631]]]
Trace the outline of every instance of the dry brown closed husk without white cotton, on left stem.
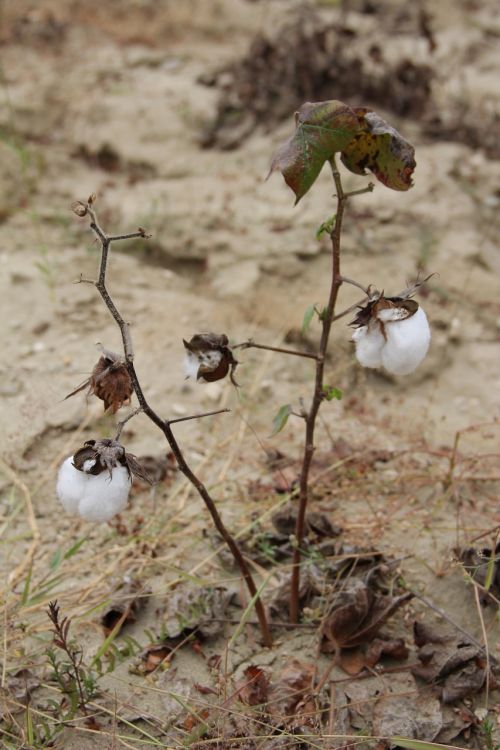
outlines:
[[92, 375], [82, 385], [69, 393], [66, 398], [88, 388], [88, 393], [93, 393], [101, 401], [104, 401], [104, 410], [116, 414], [122, 406], [130, 404], [134, 392], [130, 375], [125, 362], [118, 354], [107, 349], [102, 350], [97, 364], [92, 370]]

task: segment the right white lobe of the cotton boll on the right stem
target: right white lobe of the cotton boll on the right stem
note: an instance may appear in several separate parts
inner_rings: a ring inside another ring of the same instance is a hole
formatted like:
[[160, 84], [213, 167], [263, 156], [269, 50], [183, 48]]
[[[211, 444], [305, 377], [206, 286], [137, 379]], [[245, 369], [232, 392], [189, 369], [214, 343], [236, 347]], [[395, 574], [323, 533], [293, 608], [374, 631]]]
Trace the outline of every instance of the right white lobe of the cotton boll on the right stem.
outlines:
[[407, 375], [422, 362], [431, 340], [427, 316], [421, 307], [405, 320], [385, 325], [387, 341], [382, 349], [382, 364], [394, 375]]

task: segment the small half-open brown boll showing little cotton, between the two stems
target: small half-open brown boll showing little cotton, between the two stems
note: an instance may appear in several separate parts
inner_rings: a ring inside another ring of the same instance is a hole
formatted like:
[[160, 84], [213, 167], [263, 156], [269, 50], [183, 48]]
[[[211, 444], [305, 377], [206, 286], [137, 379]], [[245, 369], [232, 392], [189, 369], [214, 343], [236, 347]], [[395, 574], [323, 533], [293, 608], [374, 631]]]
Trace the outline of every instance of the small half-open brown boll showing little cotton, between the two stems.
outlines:
[[212, 383], [222, 380], [229, 373], [231, 382], [238, 362], [228, 346], [227, 336], [216, 333], [198, 333], [190, 341], [184, 341], [186, 378], [196, 378], [199, 383]]

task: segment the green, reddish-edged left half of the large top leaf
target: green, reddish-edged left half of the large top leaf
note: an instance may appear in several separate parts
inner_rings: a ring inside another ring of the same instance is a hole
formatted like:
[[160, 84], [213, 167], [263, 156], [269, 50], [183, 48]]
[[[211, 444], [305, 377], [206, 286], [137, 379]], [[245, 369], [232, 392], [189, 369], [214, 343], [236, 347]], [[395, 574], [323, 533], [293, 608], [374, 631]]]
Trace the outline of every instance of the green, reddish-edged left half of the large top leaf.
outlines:
[[343, 151], [359, 131], [358, 117], [343, 102], [307, 102], [295, 114], [295, 133], [273, 156], [269, 174], [279, 169], [297, 204], [325, 163]]

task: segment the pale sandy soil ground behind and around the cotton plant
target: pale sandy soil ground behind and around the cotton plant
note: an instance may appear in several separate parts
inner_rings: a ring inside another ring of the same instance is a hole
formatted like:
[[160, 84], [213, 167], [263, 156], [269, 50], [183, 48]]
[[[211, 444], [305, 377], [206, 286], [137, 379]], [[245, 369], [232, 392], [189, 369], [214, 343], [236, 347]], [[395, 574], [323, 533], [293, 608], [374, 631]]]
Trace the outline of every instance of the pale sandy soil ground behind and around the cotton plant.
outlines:
[[[95, 191], [110, 231], [143, 226], [152, 233], [147, 243], [113, 250], [109, 286], [132, 322], [137, 370], [157, 411], [180, 416], [232, 409], [177, 428], [228, 525], [241, 531], [255, 514], [283, 502], [275, 495], [256, 507], [248, 482], [270, 481], [265, 448], [298, 454], [300, 420], [291, 420], [281, 436], [268, 435], [281, 404], [307, 398], [310, 363], [247, 351], [239, 357], [238, 393], [230, 384], [194, 387], [184, 381], [182, 338], [211, 329], [232, 341], [252, 337], [279, 345], [297, 336], [307, 305], [327, 294], [329, 248], [316, 241], [315, 230], [332, 213], [328, 176], [297, 208], [279, 176], [265, 181], [292, 117], [272, 129], [258, 127], [235, 150], [200, 147], [219, 92], [200, 83], [200, 76], [241, 58], [254, 35], [277, 28], [292, 6], [280, 0], [1, 6], [4, 675], [23, 663], [43, 669], [49, 599], [57, 598], [76, 618], [74, 628], [91, 658], [102, 643], [96, 607], [124, 575], [138, 577], [153, 592], [128, 629], [142, 645], [150, 640], [147, 628], [158, 634], [157, 613], [172, 582], [185, 573], [229, 581], [240, 590], [234, 571], [214, 557], [203, 533], [208, 520], [183, 482], [154, 494], [135, 492], [118, 530], [61, 515], [54, 492], [59, 462], [82, 439], [114, 430], [100, 403], [64, 396], [92, 369], [96, 342], [120, 348], [95, 290], [75, 284], [80, 275], [95, 274], [98, 248], [86, 221], [71, 213], [73, 200]], [[350, 22], [362, 28], [366, 14], [359, 8], [350, 11]], [[477, 111], [479, 123], [485, 106], [490, 113], [499, 107], [494, 10], [486, 1], [433, 9], [435, 102], [447, 111], [460, 101]], [[322, 12], [338, 11], [324, 3]], [[429, 59], [422, 37], [378, 30], [389, 55], [399, 47], [414, 60]], [[361, 483], [359, 476], [334, 476], [319, 507], [343, 526], [346, 541], [376, 543], [394, 557], [411, 555], [402, 563], [405, 578], [481, 639], [474, 598], [451, 550], [499, 522], [500, 162], [467, 143], [426, 136], [418, 117], [382, 114], [415, 145], [415, 186], [395, 193], [377, 185], [352, 202], [343, 272], [391, 293], [419, 270], [437, 274], [422, 299], [432, 345], [414, 375], [394, 380], [362, 371], [350, 329], [343, 321], [337, 325], [329, 367], [344, 398], [324, 410], [320, 447], [331, 449], [333, 439], [338, 448], [341, 438], [356, 454], [383, 449], [393, 455], [371, 465]], [[345, 184], [353, 189], [364, 182], [346, 174]], [[343, 289], [341, 306], [358, 293]], [[313, 325], [311, 340], [316, 333]], [[462, 436], [450, 489], [444, 480], [457, 431]], [[142, 415], [127, 425], [124, 442], [138, 455], [164, 450]], [[482, 479], [471, 483], [474, 472]], [[77, 554], [54, 566], [57, 551], [81, 539]], [[417, 604], [411, 607], [422, 614]], [[488, 610], [486, 619], [490, 646], [500, 657], [494, 612]], [[241, 671], [252, 653], [258, 660], [255, 637], [237, 642], [229, 672]], [[314, 659], [315, 649], [314, 638], [299, 631], [281, 638], [276, 655], [266, 658], [276, 666], [298, 650]], [[206, 655], [220, 650], [216, 641]], [[129, 674], [124, 658], [102, 686], [122, 715], [164, 720], [169, 679], [209, 681], [206, 662], [194, 651], [181, 652], [175, 663], [176, 675], [154, 673], [145, 686], [143, 676]], [[64, 742], [65, 748], [95, 746], [78, 732]]]

